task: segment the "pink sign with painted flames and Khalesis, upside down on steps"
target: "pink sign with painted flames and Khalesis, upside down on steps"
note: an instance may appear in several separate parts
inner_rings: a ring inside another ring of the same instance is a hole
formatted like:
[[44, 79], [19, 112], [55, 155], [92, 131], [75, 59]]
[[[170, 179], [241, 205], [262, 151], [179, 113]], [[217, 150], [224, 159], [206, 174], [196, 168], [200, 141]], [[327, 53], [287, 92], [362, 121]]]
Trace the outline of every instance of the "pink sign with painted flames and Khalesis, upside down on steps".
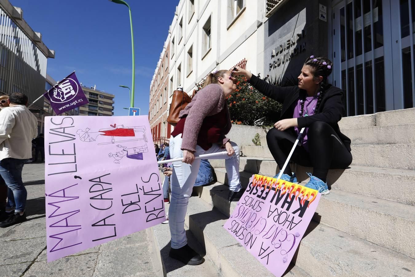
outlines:
[[273, 275], [282, 276], [320, 196], [299, 184], [253, 175], [223, 227]]

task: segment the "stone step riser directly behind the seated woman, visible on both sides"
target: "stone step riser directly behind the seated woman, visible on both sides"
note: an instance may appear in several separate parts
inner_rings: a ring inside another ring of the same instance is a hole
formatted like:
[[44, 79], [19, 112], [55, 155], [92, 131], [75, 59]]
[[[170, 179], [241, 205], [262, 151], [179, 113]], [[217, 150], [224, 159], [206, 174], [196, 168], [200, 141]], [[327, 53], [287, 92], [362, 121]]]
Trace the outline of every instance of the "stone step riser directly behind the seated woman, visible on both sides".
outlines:
[[[267, 146], [242, 146], [246, 157], [271, 158]], [[368, 167], [415, 169], [415, 143], [352, 145], [352, 164]]]

